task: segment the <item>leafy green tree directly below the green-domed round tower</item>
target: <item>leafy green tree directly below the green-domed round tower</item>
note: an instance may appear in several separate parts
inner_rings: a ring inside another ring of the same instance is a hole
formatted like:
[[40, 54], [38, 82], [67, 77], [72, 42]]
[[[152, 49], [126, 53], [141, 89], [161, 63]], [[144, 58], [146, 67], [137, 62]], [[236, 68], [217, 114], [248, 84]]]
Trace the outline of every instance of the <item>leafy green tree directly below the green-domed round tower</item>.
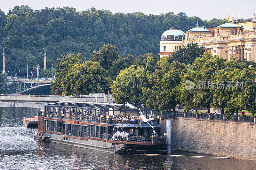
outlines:
[[175, 110], [175, 106], [180, 104], [179, 85], [181, 77], [187, 71], [188, 66], [178, 62], [168, 66], [166, 61], [163, 62], [162, 59], [161, 62], [160, 68], [156, 69], [149, 78], [149, 82], [153, 83], [153, 87], [144, 88], [143, 94], [148, 98], [146, 101], [148, 108]]

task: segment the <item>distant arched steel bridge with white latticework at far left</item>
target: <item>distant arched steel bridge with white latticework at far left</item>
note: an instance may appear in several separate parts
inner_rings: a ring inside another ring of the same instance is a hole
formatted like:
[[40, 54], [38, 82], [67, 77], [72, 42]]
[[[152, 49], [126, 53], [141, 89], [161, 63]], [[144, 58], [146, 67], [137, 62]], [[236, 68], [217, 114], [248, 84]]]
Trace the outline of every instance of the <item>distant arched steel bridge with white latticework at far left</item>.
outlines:
[[29, 79], [19, 79], [18, 80], [20, 83], [20, 93], [39, 93], [42, 92], [46, 89], [50, 89], [52, 79], [34, 79], [34, 80], [29, 80]]

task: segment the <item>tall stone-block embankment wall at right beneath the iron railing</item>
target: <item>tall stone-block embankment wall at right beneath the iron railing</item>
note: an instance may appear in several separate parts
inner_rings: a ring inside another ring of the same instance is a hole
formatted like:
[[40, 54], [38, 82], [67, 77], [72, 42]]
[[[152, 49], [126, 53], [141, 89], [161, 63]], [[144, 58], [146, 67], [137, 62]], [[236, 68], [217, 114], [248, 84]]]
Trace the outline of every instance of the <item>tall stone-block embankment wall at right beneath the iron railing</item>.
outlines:
[[[256, 124], [172, 118], [172, 149], [256, 160]], [[161, 121], [166, 133], [166, 120]]]

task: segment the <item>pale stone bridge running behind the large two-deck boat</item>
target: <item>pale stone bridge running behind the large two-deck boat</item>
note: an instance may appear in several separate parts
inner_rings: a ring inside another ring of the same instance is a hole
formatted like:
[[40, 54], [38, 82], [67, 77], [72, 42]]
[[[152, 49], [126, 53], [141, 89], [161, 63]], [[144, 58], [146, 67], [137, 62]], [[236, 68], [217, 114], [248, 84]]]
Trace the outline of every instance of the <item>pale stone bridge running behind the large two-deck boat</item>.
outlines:
[[112, 103], [112, 94], [89, 93], [88, 96], [51, 96], [51, 95], [0, 95], [0, 107], [31, 107], [43, 108], [44, 104], [59, 101], [87, 101], [87, 102], [107, 102]]

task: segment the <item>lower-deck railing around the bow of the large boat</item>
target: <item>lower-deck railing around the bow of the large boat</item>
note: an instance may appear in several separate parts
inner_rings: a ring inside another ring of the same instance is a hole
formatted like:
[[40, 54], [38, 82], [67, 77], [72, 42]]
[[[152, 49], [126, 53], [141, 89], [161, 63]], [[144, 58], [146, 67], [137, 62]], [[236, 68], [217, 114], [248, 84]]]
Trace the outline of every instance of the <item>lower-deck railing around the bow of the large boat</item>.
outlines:
[[126, 142], [166, 142], [166, 137], [142, 137], [142, 136], [115, 136], [108, 135], [108, 140], [126, 141]]

